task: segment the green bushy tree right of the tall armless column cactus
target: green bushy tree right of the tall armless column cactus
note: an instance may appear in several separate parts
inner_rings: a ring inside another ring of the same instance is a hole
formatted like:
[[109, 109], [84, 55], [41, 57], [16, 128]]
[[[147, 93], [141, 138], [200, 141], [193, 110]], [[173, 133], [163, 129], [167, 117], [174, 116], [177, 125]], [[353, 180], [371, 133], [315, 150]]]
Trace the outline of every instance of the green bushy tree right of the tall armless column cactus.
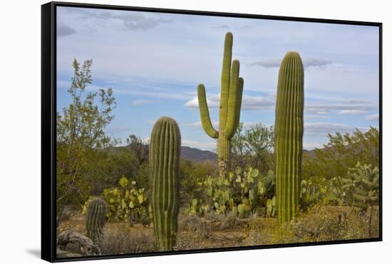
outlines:
[[[347, 189], [352, 168], [360, 164], [378, 167], [379, 134], [375, 127], [367, 132], [355, 130], [354, 133], [329, 134], [329, 143], [323, 149], [314, 149], [304, 153], [301, 181], [301, 208], [314, 204], [356, 206], [354, 191], [359, 186]], [[362, 165], [361, 165], [362, 166]], [[358, 169], [358, 168], [357, 168]], [[364, 168], [362, 168], [364, 170]], [[351, 183], [352, 184], [352, 183]], [[361, 191], [360, 191], [361, 192]], [[356, 195], [360, 195], [359, 193]], [[368, 206], [363, 205], [365, 208]], [[363, 208], [363, 206], [359, 206]]]

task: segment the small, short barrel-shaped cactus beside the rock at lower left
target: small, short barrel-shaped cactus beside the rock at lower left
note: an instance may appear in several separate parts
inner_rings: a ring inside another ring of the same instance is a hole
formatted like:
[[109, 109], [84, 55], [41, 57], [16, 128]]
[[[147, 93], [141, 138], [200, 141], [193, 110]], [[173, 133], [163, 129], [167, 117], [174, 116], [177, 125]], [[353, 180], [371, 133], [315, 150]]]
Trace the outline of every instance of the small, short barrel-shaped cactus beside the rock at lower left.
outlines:
[[86, 229], [87, 236], [97, 243], [103, 235], [108, 206], [103, 199], [93, 199], [87, 206]]

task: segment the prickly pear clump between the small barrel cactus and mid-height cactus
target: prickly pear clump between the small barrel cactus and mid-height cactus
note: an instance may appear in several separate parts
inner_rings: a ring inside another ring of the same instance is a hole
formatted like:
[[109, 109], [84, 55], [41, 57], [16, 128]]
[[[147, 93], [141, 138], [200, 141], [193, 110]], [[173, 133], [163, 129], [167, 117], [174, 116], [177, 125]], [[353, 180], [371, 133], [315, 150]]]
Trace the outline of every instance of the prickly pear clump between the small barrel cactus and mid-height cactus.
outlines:
[[[101, 198], [108, 203], [107, 218], [109, 222], [143, 222], [144, 225], [150, 223], [150, 206], [148, 206], [148, 194], [145, 189], [137, 187], [136, 182], [129, 182], [124, 176], [118, 181], [118, 186], [104, 189]], [[83, 214], [86, 213], [86, 206], [93, 197], [82, 206]]]

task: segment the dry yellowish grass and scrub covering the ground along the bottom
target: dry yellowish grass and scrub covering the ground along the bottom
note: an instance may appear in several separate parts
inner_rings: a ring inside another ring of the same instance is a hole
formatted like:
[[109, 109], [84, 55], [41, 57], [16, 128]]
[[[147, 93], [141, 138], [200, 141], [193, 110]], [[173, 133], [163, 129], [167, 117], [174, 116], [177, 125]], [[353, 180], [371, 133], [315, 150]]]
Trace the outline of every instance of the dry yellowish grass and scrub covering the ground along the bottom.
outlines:
[[[282, 226], [277, 218], [239, 219], [215, 214], [200, 218], [180, 214], [175, 250], [378, 237], [378, 208], [373, 208], [371, 225], [369, 219], [370, 211], [344, 206], [315, 206]], [[100, 250], [103, 254], [154, 252], [157, 249], [152, 226], [107, 223]], [[64, 230], [86, 234], [84, 217], [78, 214], [63, 221], [58, 233]]]

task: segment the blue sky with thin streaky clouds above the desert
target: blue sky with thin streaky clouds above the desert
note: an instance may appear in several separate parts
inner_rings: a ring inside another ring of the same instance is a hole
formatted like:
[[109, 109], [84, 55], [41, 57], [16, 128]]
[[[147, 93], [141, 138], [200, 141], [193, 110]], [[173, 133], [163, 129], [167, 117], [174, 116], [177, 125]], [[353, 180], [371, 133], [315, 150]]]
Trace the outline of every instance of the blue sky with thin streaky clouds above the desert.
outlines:
[[73, 58], [92, 58], [89, 90], [113, 88], [112, 137], [148, 139], [155, 120], [180, 125], [182, 145], [216, 149], [202, 130], [196, 99], [204, 83], [217, 127], [225, 33], [244, 78], [241, 122], [274, 125], [279, 63], [298, 51], [305, 67], [304, 148], [327, 133], [378, 127], [378, 28], [296, 21], [239, 19], [58, 7], [57, 108], [69, 104]]

